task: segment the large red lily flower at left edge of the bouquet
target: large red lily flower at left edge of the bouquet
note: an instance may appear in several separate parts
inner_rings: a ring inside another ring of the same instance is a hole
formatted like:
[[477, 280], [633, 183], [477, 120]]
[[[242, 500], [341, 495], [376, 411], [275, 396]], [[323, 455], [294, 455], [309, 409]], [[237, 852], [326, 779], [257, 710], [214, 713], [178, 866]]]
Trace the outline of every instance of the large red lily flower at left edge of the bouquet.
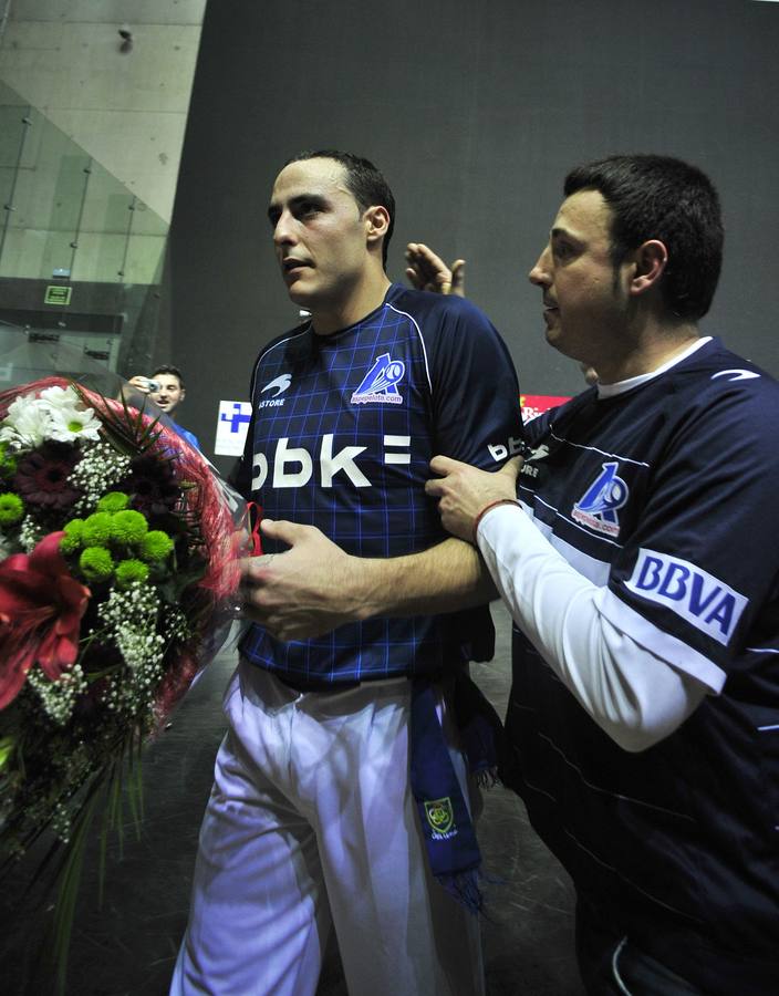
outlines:
[[14, 553], [0, 563], [0, 709], [17, 697], [33, 664], [55, 682], [79, 655], [92, 592], [67, 573], [63, 536], [52, 532], [29, 557]]

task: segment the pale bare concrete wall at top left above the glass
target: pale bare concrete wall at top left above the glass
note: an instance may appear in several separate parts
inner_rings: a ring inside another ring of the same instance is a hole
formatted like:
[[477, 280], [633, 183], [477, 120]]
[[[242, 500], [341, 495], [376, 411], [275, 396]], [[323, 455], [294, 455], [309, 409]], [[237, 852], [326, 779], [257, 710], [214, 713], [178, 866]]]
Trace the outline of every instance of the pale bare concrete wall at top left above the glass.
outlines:
[[[0, 80], [170, 221], [206, 0], [10, 0]], [[133, 34], [122, 51], [122, 25]]]

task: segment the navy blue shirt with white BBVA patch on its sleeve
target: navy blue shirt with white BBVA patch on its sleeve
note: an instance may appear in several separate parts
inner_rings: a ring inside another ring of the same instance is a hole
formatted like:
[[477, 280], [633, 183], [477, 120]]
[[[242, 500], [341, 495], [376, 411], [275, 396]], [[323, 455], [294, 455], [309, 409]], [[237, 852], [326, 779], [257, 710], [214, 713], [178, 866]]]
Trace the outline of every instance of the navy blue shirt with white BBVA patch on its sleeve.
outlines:
[[779, 992], [779, 385], [718, 341], [528, 423], [520, 498], [620, 631], [705, 686], [617, 747], [515, 635], [505, 772], [579, 891], [709, 994]]

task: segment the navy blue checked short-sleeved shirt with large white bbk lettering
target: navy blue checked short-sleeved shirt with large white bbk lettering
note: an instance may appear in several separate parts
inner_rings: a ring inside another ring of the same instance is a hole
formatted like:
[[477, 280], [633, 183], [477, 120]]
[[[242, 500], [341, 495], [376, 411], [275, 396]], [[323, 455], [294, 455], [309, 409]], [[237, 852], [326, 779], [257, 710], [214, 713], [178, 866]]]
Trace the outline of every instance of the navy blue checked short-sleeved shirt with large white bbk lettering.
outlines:
[[[269, 343], [251, 398], [243, 494], [268, 518], [316, 526], [359, 557], [444, 540], [424, 491], [430, 458], [497, 469], [522, 435], [513, 366], [487, 318], [468, 301], [398, 284], [347, 329], [323, 336], [304, 324]], [[256, 625], [241, 652], [290, 679], [343, 682], [437, 674], [489, 658], [492, 644], [481, 606], [376, 618], [292, 643]]]

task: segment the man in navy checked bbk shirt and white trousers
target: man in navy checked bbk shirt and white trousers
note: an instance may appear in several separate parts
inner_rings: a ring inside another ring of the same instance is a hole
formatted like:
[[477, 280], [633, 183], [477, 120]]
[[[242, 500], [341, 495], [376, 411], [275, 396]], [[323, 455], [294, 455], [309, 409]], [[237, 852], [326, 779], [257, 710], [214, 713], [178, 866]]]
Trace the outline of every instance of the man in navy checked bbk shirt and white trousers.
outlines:
[[[478, 554], [447, 538], [425, 483], [438, 452], [498, 470], [519, 445], [505, 344], [468, 302], [390, 282], [394, 200], [367, 160], [301, 154], [268, 217], [311, 320], [266, 345], [252, 375], [238, 483], [288, 525], [270, 521], [247, 562], [247, 603], [295, 529], [355, 560], [472, 573]], [[303, 577], [319, 569], [303, 558]], [[467, 666], [491, 655], [492, 592], [485, 579], [463, 611], [386, 613], [322, 639], [246, 631], [172, 993], [313, 996], [331, 924], [351, 993], [484, 992], [468, 769], [490, 761], [468, 739], [487, 704]]]

